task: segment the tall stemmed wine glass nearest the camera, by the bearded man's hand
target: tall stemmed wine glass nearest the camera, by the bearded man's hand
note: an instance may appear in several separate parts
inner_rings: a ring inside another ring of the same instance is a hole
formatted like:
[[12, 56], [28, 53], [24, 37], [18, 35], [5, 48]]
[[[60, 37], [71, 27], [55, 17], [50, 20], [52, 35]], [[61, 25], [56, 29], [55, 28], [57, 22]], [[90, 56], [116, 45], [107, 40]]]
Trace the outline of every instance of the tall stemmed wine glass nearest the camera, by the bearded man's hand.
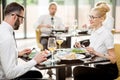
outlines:
[[57, 48], [57, 45], [56, 45], [56, 40], [55, 38], [49, 38], [48, 39], [48, 49], [50, 50], [50, 52], [52, 53], [52, 59], [51, 59], [51, 62], [52, 62], [52, 65], [54, 64], [54, 51], [56, 50]]

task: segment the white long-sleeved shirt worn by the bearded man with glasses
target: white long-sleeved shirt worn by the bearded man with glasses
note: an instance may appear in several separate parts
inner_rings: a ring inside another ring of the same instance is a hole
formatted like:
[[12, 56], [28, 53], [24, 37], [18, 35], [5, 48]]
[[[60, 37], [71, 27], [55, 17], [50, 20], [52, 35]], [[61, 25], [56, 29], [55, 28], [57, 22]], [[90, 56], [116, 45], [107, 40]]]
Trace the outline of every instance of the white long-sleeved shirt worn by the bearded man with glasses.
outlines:
[[6, 22], [0, 25], [0, 79], [13, 79], [29, 71], [35, 60], [18, 65], [18, 51], [13, 37], [13, 28]]

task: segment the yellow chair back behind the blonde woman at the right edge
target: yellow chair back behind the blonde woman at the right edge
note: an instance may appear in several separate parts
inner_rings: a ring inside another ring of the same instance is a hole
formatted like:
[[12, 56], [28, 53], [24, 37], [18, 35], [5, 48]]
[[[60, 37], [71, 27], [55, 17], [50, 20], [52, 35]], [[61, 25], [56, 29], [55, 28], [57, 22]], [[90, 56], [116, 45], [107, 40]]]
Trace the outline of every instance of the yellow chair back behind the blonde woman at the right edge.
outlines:
[[119, 75], [116, 80], [120, 80], [120, 44], [115, 44], [114, 49], [115, 49], [115, 54], [117, 56], [117, 66], [119, 71]]

